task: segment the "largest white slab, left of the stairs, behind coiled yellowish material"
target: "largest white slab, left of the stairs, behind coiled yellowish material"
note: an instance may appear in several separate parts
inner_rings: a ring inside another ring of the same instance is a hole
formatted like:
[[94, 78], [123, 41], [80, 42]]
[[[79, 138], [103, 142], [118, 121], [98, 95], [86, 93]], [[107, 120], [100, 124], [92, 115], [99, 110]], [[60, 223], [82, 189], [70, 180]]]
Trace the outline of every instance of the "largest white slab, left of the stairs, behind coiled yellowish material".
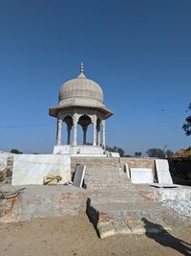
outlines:
[[71, 180], [71, 158], [54, 154], [17, 154], [13, 159], [11, 185], [42, 185], [46, 175], [61, 175], [63, 184]]

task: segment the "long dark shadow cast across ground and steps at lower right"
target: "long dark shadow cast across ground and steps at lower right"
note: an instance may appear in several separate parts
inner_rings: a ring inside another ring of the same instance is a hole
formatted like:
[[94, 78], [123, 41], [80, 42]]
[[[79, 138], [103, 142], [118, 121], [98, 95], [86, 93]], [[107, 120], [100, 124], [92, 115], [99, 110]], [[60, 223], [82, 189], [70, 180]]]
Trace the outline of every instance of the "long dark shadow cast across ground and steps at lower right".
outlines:
[[[185, 256], [191, 256], [191, 244], [188, 244], [174, 236], [172, 236], [169, 232], [167, 232], [162, 225], [151, 222], [146, 220], [145, 218], [142, 218], [144, 222], [144, 228], [146, 230], [145, 235], [150, 238], [155, 240], [157, 243], [166, 246], [166, 247], [171, 247], [177, 251], [179, 251], [181, 254]], [[150, 228], [156, 228], [160, 230], [161, 232], [159, 233], [150, 233], [149, 230]]]

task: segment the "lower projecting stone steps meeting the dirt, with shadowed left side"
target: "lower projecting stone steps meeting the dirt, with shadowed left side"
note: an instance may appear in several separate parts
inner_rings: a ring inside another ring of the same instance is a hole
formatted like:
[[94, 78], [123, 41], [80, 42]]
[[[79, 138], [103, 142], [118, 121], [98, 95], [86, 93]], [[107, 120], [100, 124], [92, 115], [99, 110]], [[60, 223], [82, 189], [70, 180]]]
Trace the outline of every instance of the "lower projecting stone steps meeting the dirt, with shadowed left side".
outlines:
[[165, 212], [159, 204], [145, 201], [130, 192], [120, 196], [117, 190], [111, 193], [105, 190], [88, 199], [86, 212], [101, 239], [119, 234], [141, 235], [171, 230], [159, 220]]

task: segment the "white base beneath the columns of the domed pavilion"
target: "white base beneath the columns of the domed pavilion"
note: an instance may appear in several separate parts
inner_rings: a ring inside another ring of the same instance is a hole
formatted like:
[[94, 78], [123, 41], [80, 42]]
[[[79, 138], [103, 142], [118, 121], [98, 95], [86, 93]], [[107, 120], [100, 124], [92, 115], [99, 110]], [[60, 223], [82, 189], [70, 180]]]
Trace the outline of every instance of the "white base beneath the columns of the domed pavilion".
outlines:
[[97, 146], [72, 146], [72, 145], [60, 145], [54, 146], [54, 154], [70, 154], [71, 156], [95, 156], [95, 157], [107, 157], [106, 152]]

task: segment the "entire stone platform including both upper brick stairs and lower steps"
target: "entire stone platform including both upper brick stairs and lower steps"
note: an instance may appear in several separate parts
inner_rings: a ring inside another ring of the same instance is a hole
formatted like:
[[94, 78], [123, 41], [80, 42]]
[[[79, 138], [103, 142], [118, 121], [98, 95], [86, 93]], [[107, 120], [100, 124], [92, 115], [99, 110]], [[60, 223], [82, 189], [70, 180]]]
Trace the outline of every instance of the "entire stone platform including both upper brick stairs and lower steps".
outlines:
[[[131, 168], [140, 164], [139, 159], [122, 161], [112, 157], [71, 157], [72, 175], [76, 164], [86, 165], [86, 189], [65, 185], [25, 186], [18, 197], [0, 199], [0, 221], [27, 221], [74, 215], [82, 211], [87, 213], [100, 238], [157, 233], [180, 226], [182, 220], [179, 215], [164, 207], [163, 202], [184, 200], [189, 204], [191, 189], [132, 184], [123, 170], [126, 162]], [[143, 165], [152, 168], [153, 160], [143, 159]], [[10, 186], [8, 190], [13, 188], [19, 187]]]

